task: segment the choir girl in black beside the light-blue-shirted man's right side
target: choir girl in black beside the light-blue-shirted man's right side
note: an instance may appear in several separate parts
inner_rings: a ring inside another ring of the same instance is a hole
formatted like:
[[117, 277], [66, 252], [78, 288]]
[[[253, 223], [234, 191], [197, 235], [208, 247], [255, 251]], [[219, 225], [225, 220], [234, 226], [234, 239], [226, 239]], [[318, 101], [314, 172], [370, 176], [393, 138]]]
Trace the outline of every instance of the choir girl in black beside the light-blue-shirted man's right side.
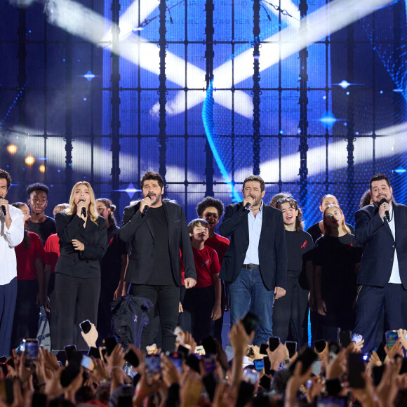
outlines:
[[[308, 317], [308, 289], [300, 279], [305, 267], [312, 267], [310, 260], [306, 261], [306, 253], [312, 250], [312, 237], [303, 230], [302, 211], [292, 196], [276, 201], [276, 208], [283, 213], [284, 229], [288, 255], [286, 295], [274, 302], [273, 335], [281, 342], [293, 340], [298, 347], [305, 345], [303, 323]], [[307, 264], [306, 264], [307, 263]]]

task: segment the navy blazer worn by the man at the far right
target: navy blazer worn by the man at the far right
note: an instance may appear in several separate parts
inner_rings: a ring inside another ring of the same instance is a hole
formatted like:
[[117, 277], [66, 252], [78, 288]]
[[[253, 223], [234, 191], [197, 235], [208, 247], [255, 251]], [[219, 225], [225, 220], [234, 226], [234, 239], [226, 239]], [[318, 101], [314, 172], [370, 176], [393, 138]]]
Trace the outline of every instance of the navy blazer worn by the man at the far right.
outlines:
[[394, 249], [399, 260], [400, 278], [407, 289], [407, 206], [392, 203], [396, 241], [386, 221], [373, 204], [355, 213], [356, 241], [363, 245], [363, 255], [357, 283], [384, 287], [392, 274]]

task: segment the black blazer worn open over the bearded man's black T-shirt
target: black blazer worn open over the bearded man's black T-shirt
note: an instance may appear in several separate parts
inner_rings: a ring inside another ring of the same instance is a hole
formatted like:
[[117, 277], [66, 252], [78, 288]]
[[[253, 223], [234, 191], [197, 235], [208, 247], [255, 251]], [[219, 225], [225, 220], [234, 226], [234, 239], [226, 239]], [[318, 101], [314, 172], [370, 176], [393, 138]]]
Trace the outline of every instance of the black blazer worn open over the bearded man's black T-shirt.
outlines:
[[[196, 280], [194, 255], [192, 254], [191, 239], [187, 228], [184, 211], [178, 204], [167, 199], [163, 200], [168, 226], [168, 250], [170, 252], [173, 277], [177, 286], [181, 285], [181, 258], [184, 260], [185, 278]], [[137, 204], [124, 208], [123, 220], [119, 232], [120, 239], [131, 242], [131, 253], [126, 272], [128, 283], [144, 284], [152, 272], [154, 265], [154, 227], [147, 215], [139, 211]]]

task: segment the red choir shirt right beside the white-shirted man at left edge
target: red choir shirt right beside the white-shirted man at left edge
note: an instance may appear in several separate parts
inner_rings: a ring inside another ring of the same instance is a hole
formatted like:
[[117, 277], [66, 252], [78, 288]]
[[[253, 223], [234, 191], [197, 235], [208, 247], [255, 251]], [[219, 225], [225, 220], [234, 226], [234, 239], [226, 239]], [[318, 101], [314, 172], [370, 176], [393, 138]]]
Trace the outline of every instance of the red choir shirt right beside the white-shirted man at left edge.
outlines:
[[35, 260], [44, 258], [44, 247], [38, 234], [28, 232], [28, 236], [31, 241], [29, 248], [25, 248], [24, 241], [14, 248], [17, 258], [18, 281], [36, 279]]

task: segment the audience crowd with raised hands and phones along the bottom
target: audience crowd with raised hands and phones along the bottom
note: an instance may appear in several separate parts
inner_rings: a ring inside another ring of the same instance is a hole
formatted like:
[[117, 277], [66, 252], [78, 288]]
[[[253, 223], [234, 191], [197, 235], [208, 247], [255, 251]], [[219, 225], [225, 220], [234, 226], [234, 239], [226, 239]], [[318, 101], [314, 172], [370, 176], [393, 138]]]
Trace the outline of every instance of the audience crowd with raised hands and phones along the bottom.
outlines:
[[71, 351], [64, 364], [42, 347], [32, 360], [13, 349], [1, 364], [0, 406], [406, 406], [406, 331], [384, 357], [372, 352], [363, 361], [355, 342], [293, 355], [283, 343], [274, 350], [252, 346], [254, 333], [243, 321], [232, 326], [226, 352], [211, 337], [197, 347], [183, 332], [174, 353], [111, 343], [97, 349], [93, 324], [83, 334], [95, 355], [90, 361]]

